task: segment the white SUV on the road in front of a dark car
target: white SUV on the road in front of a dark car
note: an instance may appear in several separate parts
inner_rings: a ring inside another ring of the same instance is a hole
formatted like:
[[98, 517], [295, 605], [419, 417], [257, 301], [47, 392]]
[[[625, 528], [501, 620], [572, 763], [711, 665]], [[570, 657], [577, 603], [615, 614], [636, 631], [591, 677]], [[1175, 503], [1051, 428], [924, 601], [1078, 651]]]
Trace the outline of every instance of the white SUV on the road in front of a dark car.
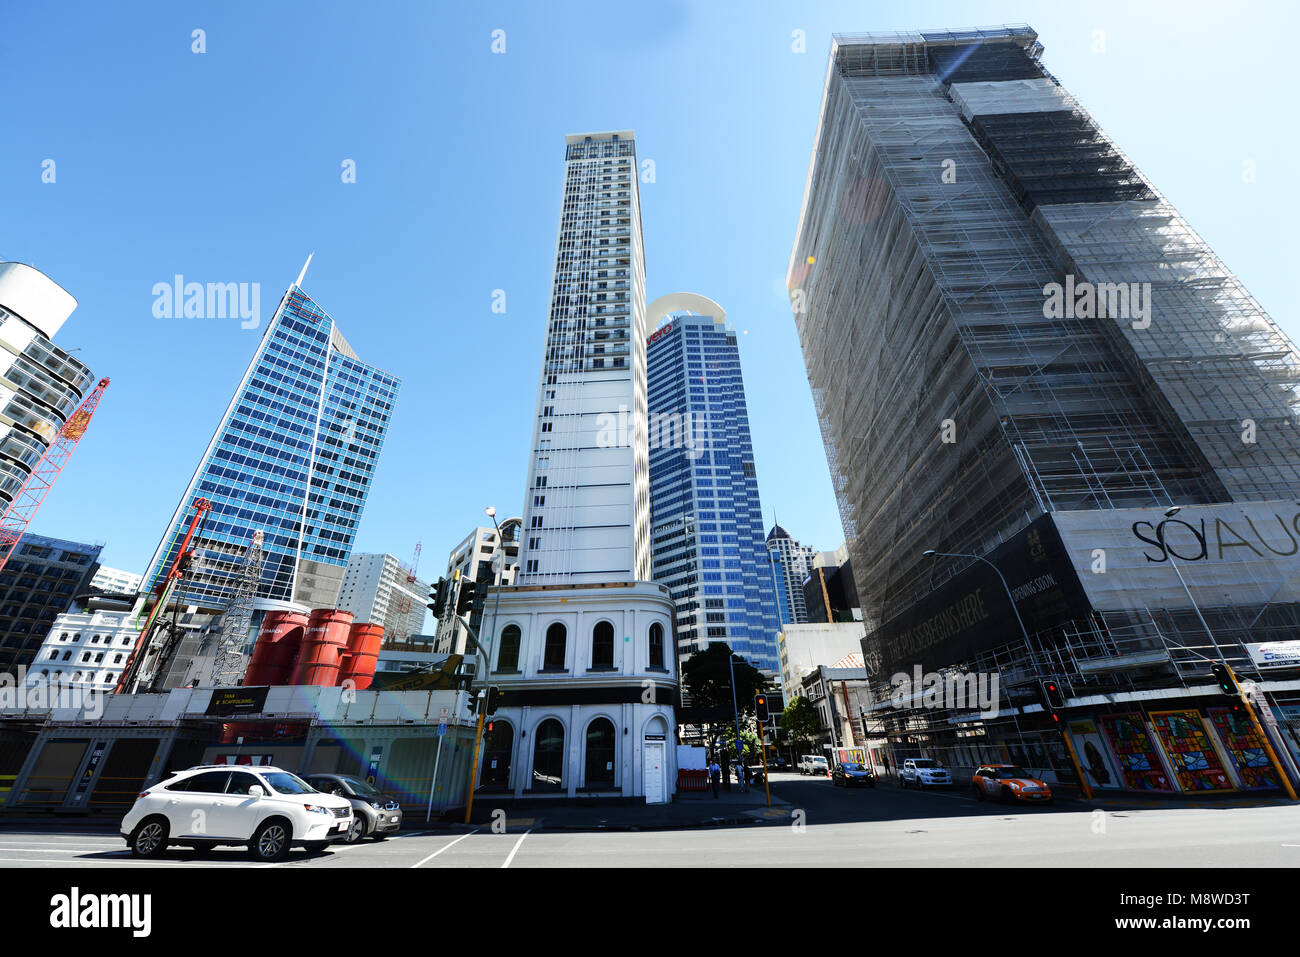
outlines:
[[246, 844], [255, 861], [281, 861], [290, 845], [322, 850], [351, 826], [346, 797], [322, 794], [295, 774], [204, 765], [140, 792], [118, 830], [135, 857], [157, 857], [169, 844]]

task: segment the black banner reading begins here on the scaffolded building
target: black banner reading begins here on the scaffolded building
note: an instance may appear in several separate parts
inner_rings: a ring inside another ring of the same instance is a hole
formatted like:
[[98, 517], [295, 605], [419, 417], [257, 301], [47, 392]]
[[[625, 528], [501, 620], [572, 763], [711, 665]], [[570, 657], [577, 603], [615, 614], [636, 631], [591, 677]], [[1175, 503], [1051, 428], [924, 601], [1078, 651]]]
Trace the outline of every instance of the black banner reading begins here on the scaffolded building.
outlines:
[[[862, 640], [867, 661], [879, 651], [881, 671], [911, 674], [916, 664], [935, 671], [1020, 638], [1008, 589], [1015, 596], [1030, 633], [1088, 614], [1088, 599], [1070, 567], [1050, 515], [1041, 515]], [[935, 562], [958, 562], [940, 558]], [[998, 572], [1006, 579], [998, 577]]]

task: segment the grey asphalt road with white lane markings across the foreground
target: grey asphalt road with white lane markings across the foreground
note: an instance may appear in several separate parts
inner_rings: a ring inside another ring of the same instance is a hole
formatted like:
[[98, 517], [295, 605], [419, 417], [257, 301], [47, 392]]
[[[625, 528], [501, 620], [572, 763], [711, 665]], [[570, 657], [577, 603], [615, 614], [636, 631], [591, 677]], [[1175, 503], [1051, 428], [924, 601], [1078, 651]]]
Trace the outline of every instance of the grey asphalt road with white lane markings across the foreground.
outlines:
[[255, 865], [237, 848], [136, 861], [113, 833], [52, 820], [0, 827], [0, 867], [1300, 866], [1300, 810], [1291, 806], [1015, 807], [966, 792], [850, 791], [797, 774], [772, 780], [789, 806], [744, 827], [547, 832], [520, 818], [504, 833], [410, 831]]

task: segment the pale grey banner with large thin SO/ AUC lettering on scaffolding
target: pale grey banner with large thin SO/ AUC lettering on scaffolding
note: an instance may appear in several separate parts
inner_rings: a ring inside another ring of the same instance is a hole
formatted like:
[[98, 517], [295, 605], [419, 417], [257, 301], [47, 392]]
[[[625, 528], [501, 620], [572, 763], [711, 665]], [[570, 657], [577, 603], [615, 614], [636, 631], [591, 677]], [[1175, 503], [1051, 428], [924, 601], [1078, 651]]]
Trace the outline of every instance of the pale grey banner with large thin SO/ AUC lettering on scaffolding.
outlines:
[[1188, 589], [1210, 605], [1223, 594], [1234, 605], [1300, 601], [1295, 502], [1195, 505], [1174, 518], [1164, 508], [1062, 511], [1053, 518], [1088, 599], [1101, 611], [1190, 609]]

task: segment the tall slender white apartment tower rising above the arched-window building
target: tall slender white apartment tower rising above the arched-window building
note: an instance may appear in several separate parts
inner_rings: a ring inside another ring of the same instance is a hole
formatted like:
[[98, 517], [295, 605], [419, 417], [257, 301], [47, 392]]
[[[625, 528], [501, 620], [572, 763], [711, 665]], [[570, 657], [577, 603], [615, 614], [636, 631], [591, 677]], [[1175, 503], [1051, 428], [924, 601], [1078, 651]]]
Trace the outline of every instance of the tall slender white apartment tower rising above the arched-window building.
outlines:
[[633, 135], [567, 137], [520, 584], [650, 580], [645, 325]]

